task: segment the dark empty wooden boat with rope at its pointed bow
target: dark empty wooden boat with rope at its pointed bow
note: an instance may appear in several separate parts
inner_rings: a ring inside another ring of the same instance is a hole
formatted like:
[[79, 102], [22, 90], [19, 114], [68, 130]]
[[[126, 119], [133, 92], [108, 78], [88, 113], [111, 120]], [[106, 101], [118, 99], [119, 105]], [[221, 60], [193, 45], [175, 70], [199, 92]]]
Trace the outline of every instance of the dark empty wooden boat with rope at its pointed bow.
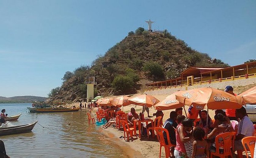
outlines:
[[27, 125], [0, 128], [0, 136], [31, 132], [37, 121]]

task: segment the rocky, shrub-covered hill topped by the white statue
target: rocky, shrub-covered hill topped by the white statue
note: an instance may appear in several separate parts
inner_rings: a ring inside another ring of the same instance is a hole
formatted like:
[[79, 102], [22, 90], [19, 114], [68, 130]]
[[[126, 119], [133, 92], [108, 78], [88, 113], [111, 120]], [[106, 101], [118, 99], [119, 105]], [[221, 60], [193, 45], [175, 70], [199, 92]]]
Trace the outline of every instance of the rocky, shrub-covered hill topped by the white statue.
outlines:
[[98, 83], [95, 95], [108, 96], [136, 93], [143, 90], [145, 83], [178, 77], [191, 66], [225, 67], [228, 64], [194, 50], [167, 30], [150, 33], [138, 28], [90, 66], [67, 71], [62, 86], [52, 89], [48, 101], [84, 100], [88, 74], [94, 74]]

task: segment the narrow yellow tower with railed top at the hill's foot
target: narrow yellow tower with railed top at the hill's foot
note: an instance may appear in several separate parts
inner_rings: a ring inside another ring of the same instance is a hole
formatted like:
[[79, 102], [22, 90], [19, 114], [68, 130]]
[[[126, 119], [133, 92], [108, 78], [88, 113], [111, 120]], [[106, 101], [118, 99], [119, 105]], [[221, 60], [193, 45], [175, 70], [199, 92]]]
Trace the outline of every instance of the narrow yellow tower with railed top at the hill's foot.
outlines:
[[88, 75], [86, 77], [86, 84], [87, 84], [87, 102], [90, 102], [94, 98], [94, 85], [97, 84], [95, 82], [95, 77], [94, 75]]

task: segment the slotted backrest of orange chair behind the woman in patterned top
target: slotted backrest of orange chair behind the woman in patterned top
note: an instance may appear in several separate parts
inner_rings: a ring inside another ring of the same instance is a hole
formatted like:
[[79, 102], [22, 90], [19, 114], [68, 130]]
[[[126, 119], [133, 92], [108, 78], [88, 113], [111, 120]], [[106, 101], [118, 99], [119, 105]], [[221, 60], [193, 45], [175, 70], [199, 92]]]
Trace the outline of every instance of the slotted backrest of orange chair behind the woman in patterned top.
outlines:
[[232, 148], [234, 149], [234, 141], [235, 141], [235, 136], [236, 136], [236, 132], [226, 132], [226, 133], [221, 133], [218, 136], [215, 137], [215, 144], [216, 144], [216, 154], [220, 154], [219, 153], [219, 139], [222, 138], [223, 139], [223, 143], [224, 143], [224, 153], [229, 153], [231, 152], [230, 150], [230, 144], [232, 144]]

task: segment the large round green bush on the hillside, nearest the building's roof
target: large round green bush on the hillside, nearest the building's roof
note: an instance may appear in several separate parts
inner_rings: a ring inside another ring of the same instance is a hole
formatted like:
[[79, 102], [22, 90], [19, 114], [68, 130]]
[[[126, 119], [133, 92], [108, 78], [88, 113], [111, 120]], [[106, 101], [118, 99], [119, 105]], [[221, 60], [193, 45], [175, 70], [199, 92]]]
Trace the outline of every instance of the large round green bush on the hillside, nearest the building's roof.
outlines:
[[164, 78], [163, 67], [156, 62], [153, 62], [153, 61], [145, 62], [142, 70], [145, 71], [148, 77], [152, 78], [153, 81], [155, 81], [155, 79], [157, 78], [159, 79]]

